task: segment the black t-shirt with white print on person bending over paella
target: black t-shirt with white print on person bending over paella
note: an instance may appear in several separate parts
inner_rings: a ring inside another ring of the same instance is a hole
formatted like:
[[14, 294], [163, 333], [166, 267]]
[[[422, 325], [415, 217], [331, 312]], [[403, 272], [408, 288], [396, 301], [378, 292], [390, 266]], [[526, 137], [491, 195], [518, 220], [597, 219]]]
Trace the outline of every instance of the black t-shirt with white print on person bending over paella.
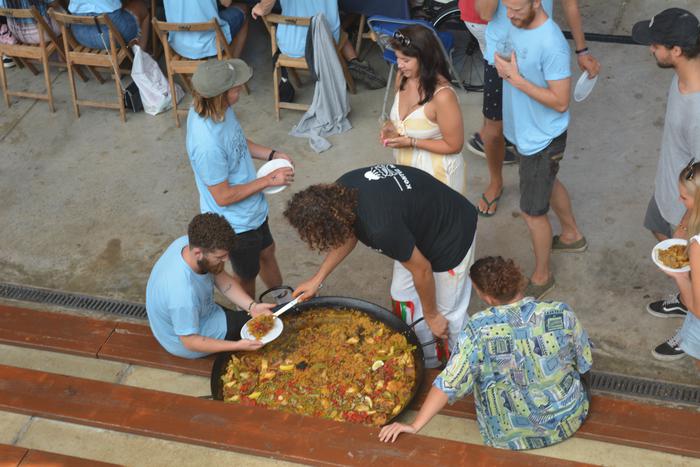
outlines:
[[348, 172], [338, 183], [358, 190], [355, 235], [370, 248], [403, 262], [417, 247], [435, 272], [456, 267], [469, 251], [476, 208], [430, 174], [381, 164]]

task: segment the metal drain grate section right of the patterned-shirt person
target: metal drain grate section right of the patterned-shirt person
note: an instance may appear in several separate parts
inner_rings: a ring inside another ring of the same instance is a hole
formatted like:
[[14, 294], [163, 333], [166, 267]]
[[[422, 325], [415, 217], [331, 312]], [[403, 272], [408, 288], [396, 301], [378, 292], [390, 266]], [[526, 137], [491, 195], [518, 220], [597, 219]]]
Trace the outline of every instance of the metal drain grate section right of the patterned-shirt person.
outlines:
[[591, 389], [664, 402], [700, 406], [700, 387], [634, 378], [611, 373], [592, 372]]

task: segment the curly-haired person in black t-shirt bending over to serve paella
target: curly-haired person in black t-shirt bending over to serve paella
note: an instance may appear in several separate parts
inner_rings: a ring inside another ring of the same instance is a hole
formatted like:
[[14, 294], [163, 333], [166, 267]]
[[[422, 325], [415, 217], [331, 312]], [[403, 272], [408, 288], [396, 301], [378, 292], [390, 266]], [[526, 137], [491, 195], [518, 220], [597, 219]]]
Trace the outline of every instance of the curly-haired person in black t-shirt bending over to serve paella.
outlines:
[[[359, 240], [408, 271], [401, 286], [416, 298], [400, 303], [400, 311], [408, 323], [425, 318], [415, 327], [421, 342], [433, 336], [456, 342], [471, 295], [466, 271], [477, 221], [462, 195], [422, 170], [375, 165], [295, 194], [284, 215], [311, 249], [327, 252], [294, 296], [315, 295]], [[426, 366], [439, 365], [435, 346], [424, 354]]]

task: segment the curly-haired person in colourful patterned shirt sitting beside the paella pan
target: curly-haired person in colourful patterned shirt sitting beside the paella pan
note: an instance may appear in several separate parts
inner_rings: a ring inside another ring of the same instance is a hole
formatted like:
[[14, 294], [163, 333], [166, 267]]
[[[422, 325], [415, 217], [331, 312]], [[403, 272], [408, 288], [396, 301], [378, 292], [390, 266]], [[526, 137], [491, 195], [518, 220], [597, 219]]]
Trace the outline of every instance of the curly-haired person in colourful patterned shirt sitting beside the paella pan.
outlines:
[[416, 433], [447, 402], [472, 391], [489, 446], [534, 449], [571, 437], [588, 415], [584, 374], [592, 363], [576, 315], [565, 303], [524, 297], [527, 280], [512, 260], [482, 258], [470, 276], [489, 308], [465, 323], [416, 420], [383, 427], [379, 439]]

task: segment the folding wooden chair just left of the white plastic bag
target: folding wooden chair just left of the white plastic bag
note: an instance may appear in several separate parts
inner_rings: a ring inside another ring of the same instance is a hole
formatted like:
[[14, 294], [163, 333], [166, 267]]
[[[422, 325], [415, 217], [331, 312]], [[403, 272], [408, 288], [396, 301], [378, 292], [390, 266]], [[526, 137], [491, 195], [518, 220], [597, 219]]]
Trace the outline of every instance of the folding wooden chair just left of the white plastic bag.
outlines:
[[[134, 62], [134, 56], [124, 42], [121, 34], [114, 26], [107, 15], [100, 16], [74, 16], [64, 13], [59, 13], [54, 9], [49, 10], [51, 17], [61, 25], [61, 34], [63, 35], [63, 48], [66, 53], [66, 66], [68, 68], [68, 81], [70, 82], [71, 96], [73, 98], [73, 109], [76, 117], [80, 118], [80, 106], [98, 107], [101, 109], [119, 110], [119, 117], [122, 122], [126, 122], [126, 111], [124, 108], [124, 97], [122, 95], [121, 75], [128, 74], [128, 70], [122, 70], [121, 66], [128, 58], [131, 63]], [[96, 22], [102, 28], [109, 30], [109, 49], [91, 49], [82, 46], [73, 37], [69, 26], [84, 25], [96, 26]], [[95, 78], [104, 83], [104, 78], [97, 70], [98, 68], [107, 68], [114, 77], [114, 86], [117, 91], [117, 102], [100, 102], [86, 99], [78, 99], [78, 93], [75, 87], [74, 72], [77, 72], [76, 66], [84, 65], [92, 72]]]

